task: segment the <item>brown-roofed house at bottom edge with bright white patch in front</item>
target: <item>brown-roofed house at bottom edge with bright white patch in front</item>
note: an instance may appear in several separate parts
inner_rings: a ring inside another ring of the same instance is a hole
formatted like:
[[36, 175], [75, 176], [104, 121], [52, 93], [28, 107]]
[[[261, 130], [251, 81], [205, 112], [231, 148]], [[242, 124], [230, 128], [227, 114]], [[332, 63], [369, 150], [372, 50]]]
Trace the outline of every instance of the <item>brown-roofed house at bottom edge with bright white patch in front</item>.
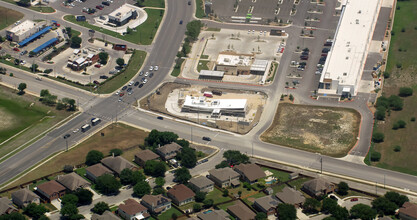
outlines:
[[151, 216], [148, 209], [134, 199], [125, 200], [119, 205], [117, 213], [126, 220], [148, 219]]

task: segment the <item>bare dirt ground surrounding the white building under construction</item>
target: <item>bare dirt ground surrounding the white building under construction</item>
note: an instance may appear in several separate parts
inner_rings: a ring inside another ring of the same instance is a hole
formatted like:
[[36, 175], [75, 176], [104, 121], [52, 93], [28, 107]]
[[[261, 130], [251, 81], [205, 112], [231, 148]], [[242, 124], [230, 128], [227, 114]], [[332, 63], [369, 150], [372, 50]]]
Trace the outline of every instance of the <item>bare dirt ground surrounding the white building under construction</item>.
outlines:
[[[150, 96], [140, 100], [140, 107], [146, 110], [151, 110], [154, 112], [158, 112], [158, 113], [163, 113], [166, 115], [170, 115], [172, 117], [177, 117], [177, 118], [181, 118], [184, 120], [188, 120], [188, 121], [192, 121], [195, 123], [200, 123], [200, 124], [204, 124], [210, 127], [216, 127], [219, 129], [223, 129], [223, 130], [227, 130], [227, 131], [232, 131], [232, 132], [236, 132], [239, 134], [246, 134], [248, 133], [259, 121], [261, 115], [262, 115], [262, 111], [263, 111], [263, 104], [265, 102], [266, 99], [266, 95], [264, 94], [258, 94], [259, 97], [263, 97], [263, 99], [259, 99], [259, 100], [250, 100], [248, 99], [248, 106], [250, 108], [256, 108], [256, 114], [251, 115], [251, 118], [253, 119], [251, 122], [249, 122], [249, 125], [246, 124], [238, 124], [236, 122], [236, 117], [228, 117], [227, 120], [216, 120], [215, 124], [212, 123], [212, 121], [214, 121], [214, 119], [206, 119], [203, 117], [200, 117], [199, 120], [197, 120], [196, 118], [189, 118], [189, 117], [183, 117], [183, 116], [178, 116], [178, 115], [174, 115], [171, 112], [168, 112], [165, 106], [166, 100], [168, 98], [168, 95], [176, 90], [176, 89], [181, 89], [181, 88], [187, 88], [188, 90], [190, 90], [191, 86], [190, 85], [186, 85], [186, 84], [178, 84], [178, 83], [165, 83], [164, 85], [162, 85], [158, 91], [158, 93], [154, 93], [151, 94]], [[194, 90], [195, 88], [193, 87], [192, 90]], [[233, 93], [238, 94], [239, 96], [242, 96], [240, 98], [244, 97], [244, 94], [251, 94], [254, 95], [256, 94], [256, 92], [253, 91], [240, 91], [240, 90], [232, 90], [232, 89], [219, 89], [219, 88], [208, 88], [208, 87], [201, 87], [198, 88], [199, 91], [204, 92], [204, 91], [212, 91], [212, 90], [221, 90], [223, 92], [224, 95], [222, 95], [222, 98], [236, 98], [233, 97]], [[192, 93], [192, 92], [187, 92], [188, 93]], [[185, 94], [185, 93], [184, 93]], [[258, 107], [256, 107], [258, 106]], [[240, 120], [240, 119], [239, 119]]]

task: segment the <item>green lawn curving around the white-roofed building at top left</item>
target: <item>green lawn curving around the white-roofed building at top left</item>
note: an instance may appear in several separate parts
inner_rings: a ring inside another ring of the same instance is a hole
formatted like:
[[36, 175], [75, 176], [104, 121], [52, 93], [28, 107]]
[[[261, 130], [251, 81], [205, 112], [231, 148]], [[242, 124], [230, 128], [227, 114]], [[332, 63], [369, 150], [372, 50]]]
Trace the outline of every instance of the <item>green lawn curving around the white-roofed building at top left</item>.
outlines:
[[150, 45], [152, 44], [152, 41], [158, 30], [159, 24], [162, 21], [164, 10], [147, 8], [145, 9], [145, 11], [146, 13], [148, 13], [148, 19], [146, 19], [146, 21], [143, 24], [136, 27], [136, 32], [132, 31], [132, 33], [126, 34], [124, 36], [117, 32], [91, 25], [86, 21], [76, 21], [74, 15], [65, 15], [64, 19], [71, 23], [78, 24], [135, 44]]

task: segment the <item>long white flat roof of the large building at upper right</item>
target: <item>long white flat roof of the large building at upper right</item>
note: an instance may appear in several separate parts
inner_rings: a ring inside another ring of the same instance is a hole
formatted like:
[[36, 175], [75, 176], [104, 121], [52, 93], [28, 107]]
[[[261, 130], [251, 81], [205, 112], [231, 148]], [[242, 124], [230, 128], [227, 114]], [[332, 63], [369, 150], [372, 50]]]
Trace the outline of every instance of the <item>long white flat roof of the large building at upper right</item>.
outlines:
[[380, 2], [381, 0], [346, 1], [320, 82], [331, 79], [338, 81], [339, 85], [358, 87]]

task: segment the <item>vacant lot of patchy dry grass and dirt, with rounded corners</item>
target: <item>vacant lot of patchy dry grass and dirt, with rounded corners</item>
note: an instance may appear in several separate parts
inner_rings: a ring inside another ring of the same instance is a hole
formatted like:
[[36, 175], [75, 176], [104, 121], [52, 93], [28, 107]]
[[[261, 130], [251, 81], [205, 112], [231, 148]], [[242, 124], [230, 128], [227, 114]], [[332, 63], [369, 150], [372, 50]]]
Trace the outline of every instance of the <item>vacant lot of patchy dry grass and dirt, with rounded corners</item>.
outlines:
[[359, 113], [351, 109], [282, 103], [261, 139], [342, 157], [355, 145], [359, 124]]

